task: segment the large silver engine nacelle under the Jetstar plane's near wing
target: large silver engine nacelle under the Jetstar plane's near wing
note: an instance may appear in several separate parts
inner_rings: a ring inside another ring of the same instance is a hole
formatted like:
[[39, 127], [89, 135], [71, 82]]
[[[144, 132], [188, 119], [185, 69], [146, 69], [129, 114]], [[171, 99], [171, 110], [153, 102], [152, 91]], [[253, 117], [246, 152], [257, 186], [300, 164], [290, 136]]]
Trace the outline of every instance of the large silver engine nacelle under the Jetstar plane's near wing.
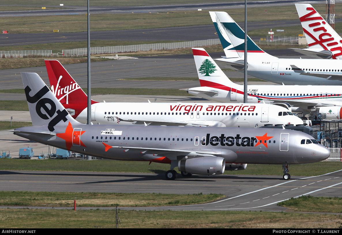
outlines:
[[221, 175], [225, 165], [221, 157], [199, 157], [179, 161], [178, 170], [197, 175]]

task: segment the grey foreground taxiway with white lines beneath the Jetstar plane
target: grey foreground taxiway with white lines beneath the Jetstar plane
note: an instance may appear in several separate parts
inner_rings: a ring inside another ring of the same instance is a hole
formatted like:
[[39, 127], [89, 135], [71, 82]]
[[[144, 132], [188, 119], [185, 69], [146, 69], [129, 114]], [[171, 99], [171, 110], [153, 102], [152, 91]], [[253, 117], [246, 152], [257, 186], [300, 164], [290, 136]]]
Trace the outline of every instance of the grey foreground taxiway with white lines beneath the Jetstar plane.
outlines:
[[191, 178], [179, 176], [174, 181], [166, 180], [164, 174], [148, 173], [0, 171], [0, 175], [0, 187], [5, 191], [217, 193], [227, 196], [201, 205], [120, 207], [121, 210], [284, 211], [286, 208], [277, 206], [278, 202], [302, 195], [339, 197], [342, 188], [342, 170], [321, 176], [292, 176], [289, 181], [282, 180], [280, 175], [193, 175]]

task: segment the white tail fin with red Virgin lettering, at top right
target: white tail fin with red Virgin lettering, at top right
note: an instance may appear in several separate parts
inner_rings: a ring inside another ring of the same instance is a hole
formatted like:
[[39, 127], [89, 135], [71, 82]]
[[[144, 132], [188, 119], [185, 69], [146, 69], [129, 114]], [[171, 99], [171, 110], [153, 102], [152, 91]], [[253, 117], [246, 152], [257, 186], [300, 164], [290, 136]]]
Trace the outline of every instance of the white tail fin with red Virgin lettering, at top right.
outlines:
[[[311, 56], [324, 59], [342, 59], [342, 38], [312, 7], [311, 4], [295, 4]], [[316, 53], [315, 53], [316, 52]]]

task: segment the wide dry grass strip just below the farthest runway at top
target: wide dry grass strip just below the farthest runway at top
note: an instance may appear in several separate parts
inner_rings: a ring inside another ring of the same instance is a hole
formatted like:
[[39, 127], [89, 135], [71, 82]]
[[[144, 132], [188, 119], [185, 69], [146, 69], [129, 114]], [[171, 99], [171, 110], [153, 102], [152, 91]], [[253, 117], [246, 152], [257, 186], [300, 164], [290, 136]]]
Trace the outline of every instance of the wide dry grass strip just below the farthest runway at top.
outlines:
[[[315, 5], [315, 9], [323, 15], [325, 14], [326, 6], [325, 4], [318, 4]], [[335, 11], [341, 12], [341, 10], [342, 4], [336, 3]], [[244, 21], [244, 8], [222, 9], [220, 11], [228, 12], [236, 22]], [[294, 5], [247, 8], [247, 15], [249, 22], [298, 19]], [[335, 17], [337, 18], [339, 15]], [[92, 14], [90, 21], [91, 30], [96, 31], [212, 24], [207, 10], [133, 14]], [[54, 29], [58, 29], [61, 33], [66, 33], [87, 31], [86, 22], [87, 16], [85, 14], [73, 14], [3, 17], [1, 25], [2, 28], [9, 30], [10, 33], [51, 33]]]

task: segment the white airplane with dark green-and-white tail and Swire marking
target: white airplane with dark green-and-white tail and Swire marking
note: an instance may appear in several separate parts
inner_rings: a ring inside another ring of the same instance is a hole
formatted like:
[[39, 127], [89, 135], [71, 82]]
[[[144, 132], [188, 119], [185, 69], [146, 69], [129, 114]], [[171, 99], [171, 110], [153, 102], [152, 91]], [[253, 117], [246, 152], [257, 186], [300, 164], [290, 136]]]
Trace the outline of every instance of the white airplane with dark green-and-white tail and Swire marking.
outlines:
[[[209, 13], [226, 54], [224, 58], [215, 61], [219, 65], [243, 72], [244, 30], [226, 12]], [[342, 81], [339, 81], [342, 80], [342, 68], [338, 60], [279, 59], [267, 54], [249, 37], [247, 60], [248, 75], [265, 81], [285, 85], [342, 85]]]

